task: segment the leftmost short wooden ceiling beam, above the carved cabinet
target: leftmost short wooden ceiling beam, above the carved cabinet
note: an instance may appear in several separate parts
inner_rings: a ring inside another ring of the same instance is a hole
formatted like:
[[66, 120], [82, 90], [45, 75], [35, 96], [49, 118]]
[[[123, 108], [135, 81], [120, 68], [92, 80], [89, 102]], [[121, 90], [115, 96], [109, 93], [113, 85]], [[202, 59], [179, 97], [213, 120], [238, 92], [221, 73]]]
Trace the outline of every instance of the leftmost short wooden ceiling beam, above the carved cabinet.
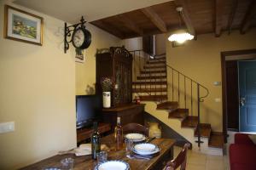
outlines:
[[136, 32], [140, 36], [143, 36], [143, 30], [141, 30], [138, 26], [136, 26], [132, 20], [130, 20], [127, 16], [125, 16], [125, 14], [118, 14], [115, 17], [120, 22], [122, 22], [126, 28]]

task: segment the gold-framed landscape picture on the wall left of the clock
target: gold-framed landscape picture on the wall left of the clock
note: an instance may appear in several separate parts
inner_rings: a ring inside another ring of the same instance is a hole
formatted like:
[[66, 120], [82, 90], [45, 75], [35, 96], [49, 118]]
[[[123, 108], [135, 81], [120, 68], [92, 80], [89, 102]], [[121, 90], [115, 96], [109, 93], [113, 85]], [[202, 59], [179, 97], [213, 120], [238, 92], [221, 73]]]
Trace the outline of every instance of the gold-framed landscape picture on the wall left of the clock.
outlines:
[[9, 5], [4, 7], [4, 37], [43, 45], [44, 19]]

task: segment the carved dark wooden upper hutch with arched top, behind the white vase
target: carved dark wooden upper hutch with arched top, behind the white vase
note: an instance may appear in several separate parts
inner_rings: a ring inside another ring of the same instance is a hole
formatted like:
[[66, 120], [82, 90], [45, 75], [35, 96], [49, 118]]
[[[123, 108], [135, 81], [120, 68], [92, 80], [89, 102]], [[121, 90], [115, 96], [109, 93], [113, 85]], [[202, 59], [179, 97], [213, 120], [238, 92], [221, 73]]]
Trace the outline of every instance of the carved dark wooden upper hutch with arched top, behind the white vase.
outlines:
[[96, 94], [102, 94], [102, 77], [113, 81], [111, 105], [131, 104], [132, 56], [125, 47], [111, 47], [97, 50], [96, 54]]

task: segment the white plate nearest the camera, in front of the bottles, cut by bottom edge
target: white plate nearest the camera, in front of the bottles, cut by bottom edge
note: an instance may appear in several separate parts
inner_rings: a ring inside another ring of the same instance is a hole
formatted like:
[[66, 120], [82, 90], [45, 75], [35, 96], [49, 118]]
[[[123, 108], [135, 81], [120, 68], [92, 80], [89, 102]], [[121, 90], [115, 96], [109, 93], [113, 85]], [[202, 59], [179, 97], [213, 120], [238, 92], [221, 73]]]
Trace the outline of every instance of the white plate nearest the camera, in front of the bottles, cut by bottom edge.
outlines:
[[95, 170], [129, 170], [130, 166], [125, 161], [113, 160], [99, 163]]

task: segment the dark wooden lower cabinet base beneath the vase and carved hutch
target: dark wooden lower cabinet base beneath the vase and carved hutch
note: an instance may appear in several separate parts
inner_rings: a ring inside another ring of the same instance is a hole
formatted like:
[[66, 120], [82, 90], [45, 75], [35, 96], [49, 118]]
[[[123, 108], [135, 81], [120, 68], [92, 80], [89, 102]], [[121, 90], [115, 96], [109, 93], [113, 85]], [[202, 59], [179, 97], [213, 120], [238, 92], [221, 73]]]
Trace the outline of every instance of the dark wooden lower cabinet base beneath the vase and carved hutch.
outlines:
[[124, 105], [111, 109], [103, 109], [102, 116], [103, 121], [111, 124], [112, 131], [113, 127], [116, 126], [117, 116], [121, 118], [121, 125], [124, 126], [130, 122], [136, 122], [144, 125], [144, 107], [145, 105]]

